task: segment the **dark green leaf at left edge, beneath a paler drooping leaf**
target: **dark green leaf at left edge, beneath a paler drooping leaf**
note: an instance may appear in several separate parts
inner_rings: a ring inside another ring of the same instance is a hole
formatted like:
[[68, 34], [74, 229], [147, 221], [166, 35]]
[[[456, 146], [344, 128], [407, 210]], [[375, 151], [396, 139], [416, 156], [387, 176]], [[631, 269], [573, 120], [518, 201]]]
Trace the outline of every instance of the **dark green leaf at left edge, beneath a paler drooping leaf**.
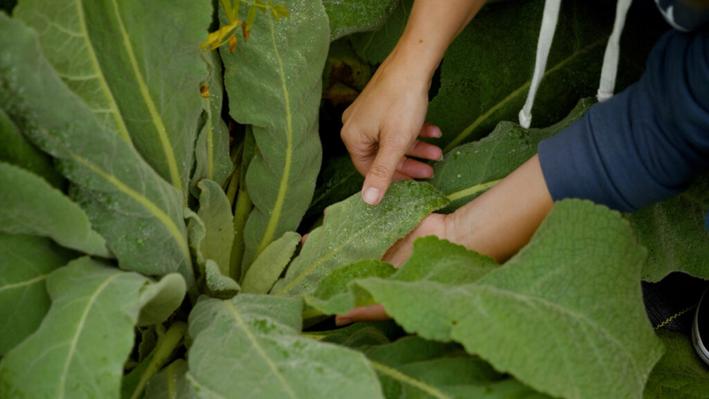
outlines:
[[0, 356], [32, 334], [49, 310], [52, 270], [73, 255], [36, 236], [0, 233]]

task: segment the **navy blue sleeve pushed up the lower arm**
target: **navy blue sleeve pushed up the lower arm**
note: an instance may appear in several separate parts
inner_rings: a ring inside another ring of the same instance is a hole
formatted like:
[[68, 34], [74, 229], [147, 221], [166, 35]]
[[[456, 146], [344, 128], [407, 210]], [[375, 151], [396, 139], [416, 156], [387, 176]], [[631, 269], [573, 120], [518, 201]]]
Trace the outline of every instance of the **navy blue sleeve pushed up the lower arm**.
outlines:
[[634, 212], [685, 190], [709, 168], [709, 31], [666, 33], [640, 81], [538, 149], [554, 200]]

